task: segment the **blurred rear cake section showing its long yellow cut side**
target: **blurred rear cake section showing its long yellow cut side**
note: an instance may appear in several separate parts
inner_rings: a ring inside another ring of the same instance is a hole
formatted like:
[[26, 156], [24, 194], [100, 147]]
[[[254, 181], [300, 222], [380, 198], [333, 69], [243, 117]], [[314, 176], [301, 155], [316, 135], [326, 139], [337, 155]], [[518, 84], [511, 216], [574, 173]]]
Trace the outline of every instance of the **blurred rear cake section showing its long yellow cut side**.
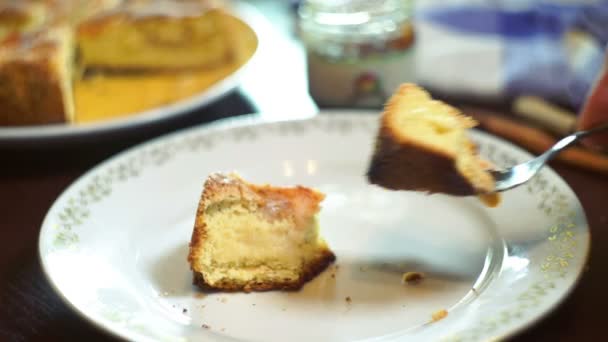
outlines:
[[223, 65], [233, 46], [225, 15], [205, 0], [127, 0], [79, 25], [81, 61], [114, 70]]

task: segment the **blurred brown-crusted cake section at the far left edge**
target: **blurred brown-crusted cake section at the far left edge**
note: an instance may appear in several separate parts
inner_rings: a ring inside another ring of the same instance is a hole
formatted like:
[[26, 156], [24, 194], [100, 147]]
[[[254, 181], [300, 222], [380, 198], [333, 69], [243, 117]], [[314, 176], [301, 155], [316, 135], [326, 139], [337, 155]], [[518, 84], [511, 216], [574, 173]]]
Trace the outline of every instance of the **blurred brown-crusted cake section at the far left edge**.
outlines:
[[0, 43], [0, 125], [72, 121], [72, 37], [53, 26]]

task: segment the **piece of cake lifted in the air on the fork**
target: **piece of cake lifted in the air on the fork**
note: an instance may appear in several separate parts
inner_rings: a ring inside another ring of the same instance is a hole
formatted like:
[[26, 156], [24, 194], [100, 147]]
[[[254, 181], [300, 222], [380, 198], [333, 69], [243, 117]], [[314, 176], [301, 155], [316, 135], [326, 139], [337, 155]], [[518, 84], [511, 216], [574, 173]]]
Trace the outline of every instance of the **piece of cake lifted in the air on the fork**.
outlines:
[[[476, 125], [424, 89], [401, 85], [381, 116], [369, 182], [392, 190], [457, 196], [491, 193], [491, 164], [478, 156], [468, 137], [467, 130]], [[493, 206], [491, 198], [484, 200]]]

